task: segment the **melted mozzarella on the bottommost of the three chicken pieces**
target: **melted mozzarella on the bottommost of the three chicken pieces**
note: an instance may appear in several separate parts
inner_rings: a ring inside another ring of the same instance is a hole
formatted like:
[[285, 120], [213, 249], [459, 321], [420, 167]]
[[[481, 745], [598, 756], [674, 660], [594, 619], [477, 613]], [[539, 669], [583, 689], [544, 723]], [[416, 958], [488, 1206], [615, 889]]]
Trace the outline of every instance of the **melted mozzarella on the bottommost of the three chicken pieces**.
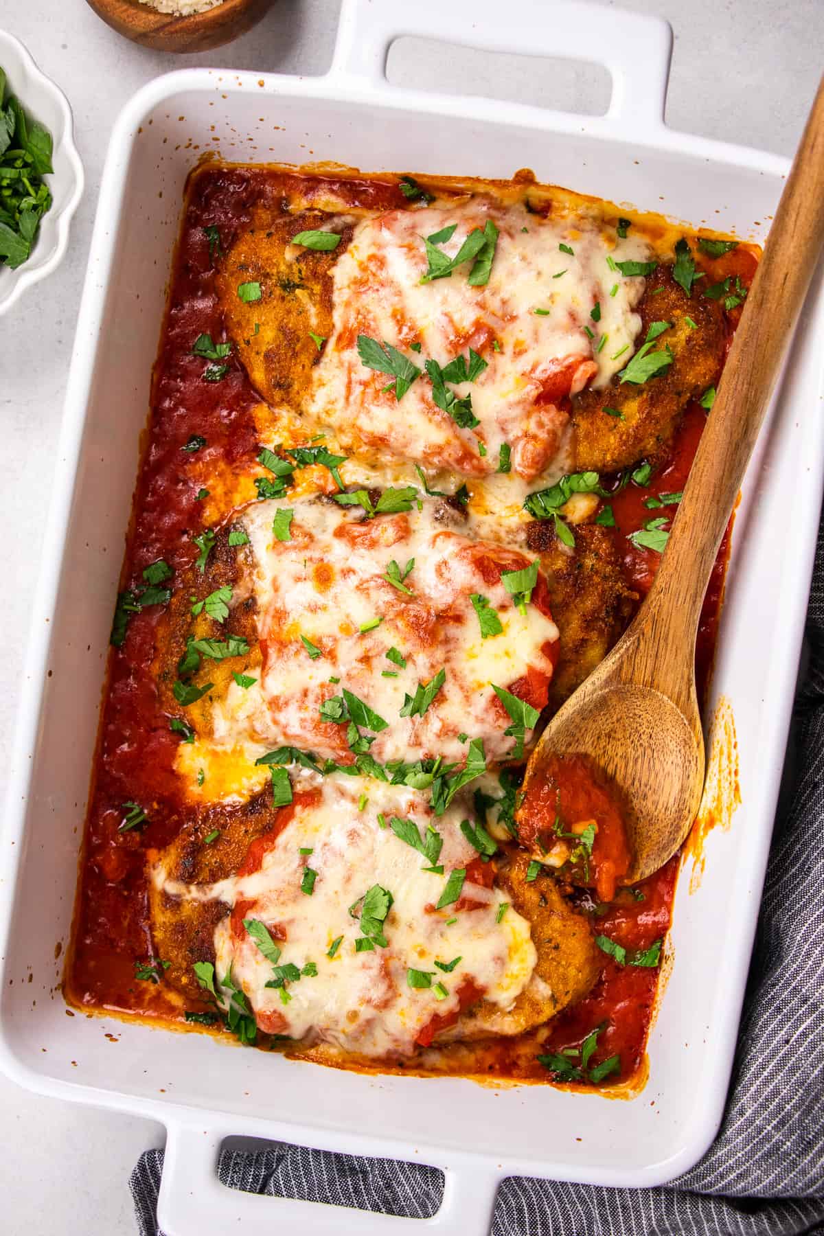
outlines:
[[[336, 774], [324, 780], [309, 805], [298, 801], [258, 871], [215, 885], [185, 885], [170, 880], [159, 864], [152, 879], [172, 896], [242, 902], [243, 918], [259, 920], [278, 941], [279, 964], [298, 969], [315, 964], [316, 975], [287, 984], [284, 1002], [282, 989], [266, 985], [272, 963], [253, 938], [236, 918], [221, 920], [215, 931], [216, 973], [220, 979], [231, 973], [261, 1028], [335, 1043], [362, 1056], [405, 1056], [414, 1052], [432, 1017], [455, 1020], [462, 983], [472, 980], [505, 1011], [535, 969], [530, 926], [511, 906], [498, 921], [503, 897], [497, 889], [466, 881], [463, 896], [471, 907], [435, 908], [450, 871], [466, 869], [477, 858], [458, 827], [465, 813], [453, 805], [432, 821], [431, 808], [414, 790]], [[421, 837], [434, 823], [444, 839], [442, 875], [423, 870], [427, 859], [390, 827], [380, 827], [379, 817], [388, 822], [393, 816], [413, 821]], [[306, 866], [316, 873], [311, 895], [301, 891]], [[387, 947], [358, 952], [358, 902], [373, 885], [392, 895], [383, 923]], [[337, 937], [342, 938], [330, 958]], [[435, 965], [453, 958], [461, 960], [448, 973]], [[409, 969], [426, 971], [431, 986], [411, 988]]]

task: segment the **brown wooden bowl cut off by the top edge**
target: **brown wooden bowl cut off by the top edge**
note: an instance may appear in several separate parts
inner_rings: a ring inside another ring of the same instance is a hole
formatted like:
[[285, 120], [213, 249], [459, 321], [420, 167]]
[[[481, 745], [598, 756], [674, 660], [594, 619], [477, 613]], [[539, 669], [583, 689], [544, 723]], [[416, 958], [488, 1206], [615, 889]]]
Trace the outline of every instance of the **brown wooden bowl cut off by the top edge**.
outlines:
[[245, 35], [273, 0], [222, 0], [205, 12], [175, 17], [138, 0], [86, 0], [98, 17], [142, 47], [156, 52], [208, 52]]

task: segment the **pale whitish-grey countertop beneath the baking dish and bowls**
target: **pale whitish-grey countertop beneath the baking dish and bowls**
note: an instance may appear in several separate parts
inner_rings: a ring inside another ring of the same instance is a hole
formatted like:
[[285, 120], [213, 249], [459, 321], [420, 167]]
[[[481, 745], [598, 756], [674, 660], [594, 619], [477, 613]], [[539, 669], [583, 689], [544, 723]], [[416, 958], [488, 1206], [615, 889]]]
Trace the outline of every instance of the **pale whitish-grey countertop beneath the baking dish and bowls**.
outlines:
[[[551, 0], [531, 2], [551, 21]], [[661, 14], [672, 22], [676, 47], [667, 121], [673, 127], [793, 152], [822, 72], [822, 0], [635, 0], [609, 6]], [[149, 78], [187, 64], [322, 73], [331, 59], [337, 7], [336, 0], [275, 0], [268, 19], [230, 47], [173, 57], [120, 38], [82, 0], [0, 0], [0, 27], [22, 40], [68, 95], [86, 173], [63, 266], [0, 320], [0, 580], [6, 632], [0, 662], [0, 791], [40, 565], [53, 444], [112, 119]], [[572, 98], [586, 106], [604, 96], [603, 80], [589, 69], [553, 66], [549, 72], [542, 59], [490, 57], [429, 41], [398, 43], [389, 69], [404, 85], [547, 105]], [[0, 1078], [0, 1227], [10, 1236], [133, 1234], [128, 1173], [142, 1149], [162, 1143], [159, 1125], [41, 1099]]]

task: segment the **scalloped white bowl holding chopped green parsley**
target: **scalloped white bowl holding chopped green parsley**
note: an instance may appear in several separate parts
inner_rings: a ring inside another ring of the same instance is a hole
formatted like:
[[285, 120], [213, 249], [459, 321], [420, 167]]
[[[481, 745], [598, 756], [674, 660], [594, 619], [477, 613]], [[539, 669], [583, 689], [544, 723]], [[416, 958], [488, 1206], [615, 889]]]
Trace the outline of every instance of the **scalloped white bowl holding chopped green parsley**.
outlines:
[[54, 172], [46, 184], [52, 194], [51, 209], [40, 222], [31, 257], [16, 271], [0, 265], [0, 315], [11, 309], [20, 295], [59, 265], [69, 242], [69, 222], [83, 193], [83, 164], [72, 133], [72, 109], [59, 87], [35, 64], [23, 44], [0, 30], [0, 67], [6, 73], [6, 91], [16, 94], [26, 112], [40, 120], [52, 135]]

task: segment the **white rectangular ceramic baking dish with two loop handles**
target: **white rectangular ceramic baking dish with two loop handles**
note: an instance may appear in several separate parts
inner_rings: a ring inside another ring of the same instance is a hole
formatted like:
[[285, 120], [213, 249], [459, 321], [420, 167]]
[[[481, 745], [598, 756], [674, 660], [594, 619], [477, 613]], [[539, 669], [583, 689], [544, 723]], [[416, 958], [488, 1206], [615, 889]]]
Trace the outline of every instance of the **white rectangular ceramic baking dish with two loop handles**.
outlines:
[[[392, 88], [399, 35], [605, 66], [602, 117]], [[652, 1185], [718, 1127], [747, 973], [798, 665], [822, 476], [820, 272], [750, 466], [714, 693], [731, 701], [742, 805], [675, 904], [649, 1080], [626, 1101], [457, 1078], [364, 1077], [107, 1017], [61, 995], [109, 627], [187, 173], [208, 151], [251, 162], [536, 177], [763, 239], [784, 159], [663, 125], [671, 31], [583, 4], [346, 0], [324, 78], [187, 70], [119, 117], [106, 162], [58, 450], [2, 839], [0, 1060], [22, 1085], [162, 1121], [167, 1236], [242, 1230], [362, 1236], [488, 1230], [499, 1180]], [[58, 955], [61, 954], [61, 955]], [[441, 1209], [415, 1221], [224, 1189], [237, 1133], [434, 1164]]]

